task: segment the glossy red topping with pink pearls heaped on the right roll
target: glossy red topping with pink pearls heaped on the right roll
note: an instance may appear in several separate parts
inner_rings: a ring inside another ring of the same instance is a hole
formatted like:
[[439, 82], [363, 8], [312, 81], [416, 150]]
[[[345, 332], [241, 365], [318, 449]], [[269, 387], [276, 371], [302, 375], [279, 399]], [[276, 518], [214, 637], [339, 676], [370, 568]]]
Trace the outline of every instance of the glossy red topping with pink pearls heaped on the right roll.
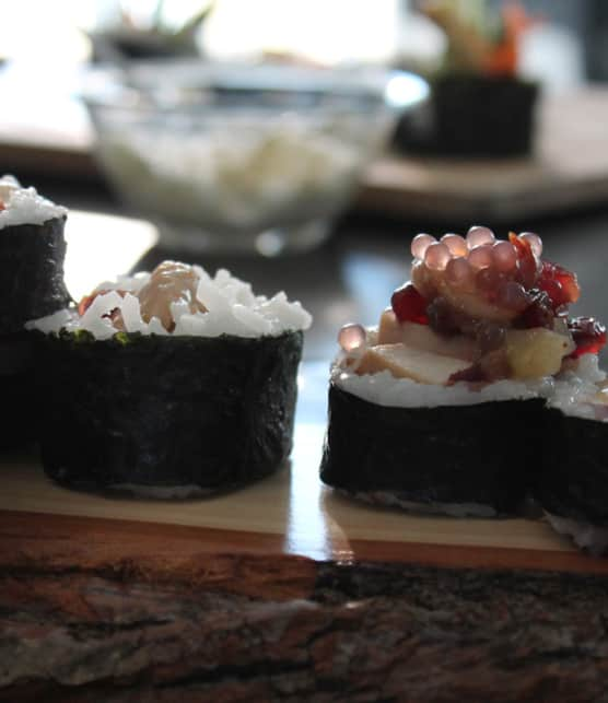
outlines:
[[535, 373], [552, 375], [564, 355], [597, 353], [606, 343], [606, 330], [595, 320], [566, 324], [568, 306], [580, 296], [576, 276], [543, 261], [542, 241], [533, 232], [496, 239], [476, 225], [466, 237], [420, 234], [411, 251], [412, 280], [394, 292], [393, 312], [400, 324], [475, 340], [476, 367], [459, 372], [458, 379], [523, 377], [523, 360], [533, 358], [540, 359]]

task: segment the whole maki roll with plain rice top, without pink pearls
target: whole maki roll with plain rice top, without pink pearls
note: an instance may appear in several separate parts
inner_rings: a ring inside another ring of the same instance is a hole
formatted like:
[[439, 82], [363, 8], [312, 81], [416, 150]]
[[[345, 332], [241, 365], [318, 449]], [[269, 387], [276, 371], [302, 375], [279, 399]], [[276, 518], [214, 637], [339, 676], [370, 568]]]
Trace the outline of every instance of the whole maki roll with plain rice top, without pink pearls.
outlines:
[[164, 261], [97, 286], [44, 333], [49, 477], [84, 490], [185, 497], [261, 478], [292, 444], [311, 316], [226, 270]]

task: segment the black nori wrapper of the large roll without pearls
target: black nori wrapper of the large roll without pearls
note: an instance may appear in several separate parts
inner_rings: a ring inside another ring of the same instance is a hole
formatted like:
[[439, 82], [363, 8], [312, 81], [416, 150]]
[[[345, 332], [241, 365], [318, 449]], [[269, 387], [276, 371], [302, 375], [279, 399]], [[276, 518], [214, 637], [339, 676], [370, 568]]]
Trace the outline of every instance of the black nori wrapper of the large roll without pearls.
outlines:
[[45, 338], [45, 471], [81, 489], [204, 491], [272, 472], [292, 446], [302, 339]]

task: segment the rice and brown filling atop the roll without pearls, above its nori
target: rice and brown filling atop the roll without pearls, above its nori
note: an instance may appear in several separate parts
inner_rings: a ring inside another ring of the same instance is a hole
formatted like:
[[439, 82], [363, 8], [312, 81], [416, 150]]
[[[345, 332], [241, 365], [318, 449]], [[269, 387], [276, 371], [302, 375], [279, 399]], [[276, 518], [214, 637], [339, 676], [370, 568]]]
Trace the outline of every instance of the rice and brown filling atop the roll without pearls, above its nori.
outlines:
[[101, 283], [77, 308], [31, 320], [26, 329], [85, 331], [96, 340], [120, 332], [255, 338], [307, 329], [311, 323], [302, 305], [282, 291], [268, 298], [225, 269], [210, 276], [200, 266], [163, 261], [151, 273]]

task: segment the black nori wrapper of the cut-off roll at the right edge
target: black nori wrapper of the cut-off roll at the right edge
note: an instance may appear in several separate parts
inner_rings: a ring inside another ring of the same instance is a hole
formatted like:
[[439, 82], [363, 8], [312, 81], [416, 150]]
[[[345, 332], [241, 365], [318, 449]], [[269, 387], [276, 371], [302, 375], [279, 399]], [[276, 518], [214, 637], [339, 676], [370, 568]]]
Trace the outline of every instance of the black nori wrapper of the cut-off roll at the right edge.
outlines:
[[553, 515], [608, 526], [608, 423], [549, 408], [543, 437], [537, 502]]

